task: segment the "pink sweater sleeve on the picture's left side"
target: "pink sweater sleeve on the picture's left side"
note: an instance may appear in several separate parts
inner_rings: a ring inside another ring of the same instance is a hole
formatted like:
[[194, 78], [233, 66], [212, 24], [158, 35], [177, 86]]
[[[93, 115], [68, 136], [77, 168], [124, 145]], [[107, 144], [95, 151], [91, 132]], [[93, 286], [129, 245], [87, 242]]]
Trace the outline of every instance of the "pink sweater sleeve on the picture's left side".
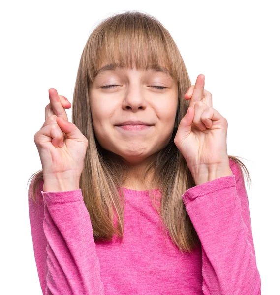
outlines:
[[[42, 187], [42, 185], [41, 185]], [[29, 198], [31, 235], [44, 295], [104, 295], [81, 189]]]

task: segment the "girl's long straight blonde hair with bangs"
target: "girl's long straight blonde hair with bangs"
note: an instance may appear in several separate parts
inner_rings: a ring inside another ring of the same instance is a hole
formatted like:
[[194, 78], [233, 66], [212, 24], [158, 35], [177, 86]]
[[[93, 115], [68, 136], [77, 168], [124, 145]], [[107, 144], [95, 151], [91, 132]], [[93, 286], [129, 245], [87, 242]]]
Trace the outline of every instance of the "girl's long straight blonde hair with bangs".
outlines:
[[[125, 202], [119, 188], [127, 177], [126, 167], [121, 158], [120, 161], [112, 160], [108, 151], [95, 140], [89, 103], [89, 86], [105, 59], [109, 63], [118, 60], [120, 66], [126, 68], [134, 64], [137, 69], [147, 69], [150, 65], [165, 67], [178, 84], [179, 103], [174, 131], [167, 146], [147, 167], [145, 176], [155, 171], [151, 187], [161, 191], [161, 198], [157, 199], [152, 189], [149, 189], [149, 196], [162, 221], [163, 234], [168, 234], [181, 252], [191, 252], [198, 245], [199, 238], [187, 214], [182, 194], [195, 183], [186, 160], [174, 144], [176, 127], [188, 109], [189, 101], [184, 95], [191, 83], [185, 63], [167, 29], [153, 16], [137, 11], [115, 14], [100, 22], [89, 36], [77, 73], [72, 120], [89, 141], [80, 188], [90, 215], [94, 240], [109, 241], [115, 234], [118, 238], [124, 237]], [[237, 157], [229, 156], [229, 159], [243, 168], [250, 180], [245, 165]], [[36, 195], [41, 194], [42, 170], [31, 177], [29, 197], [36, 202]], [[116, 226], [114, 216], [117, 218]]]

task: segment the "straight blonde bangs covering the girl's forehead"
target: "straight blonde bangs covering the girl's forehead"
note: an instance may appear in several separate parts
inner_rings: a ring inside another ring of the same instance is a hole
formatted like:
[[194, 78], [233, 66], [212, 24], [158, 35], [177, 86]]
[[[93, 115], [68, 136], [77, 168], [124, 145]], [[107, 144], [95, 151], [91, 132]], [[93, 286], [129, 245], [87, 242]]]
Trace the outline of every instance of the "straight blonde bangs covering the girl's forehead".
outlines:
[[[148, 70], [150, 68], [164, 71], [178, 81], [168, 48], [168, 33], [151, 19], [127, 15], [124, 19], [105, 20], [90, 38], [86, 47], [86, 67], [88, 82], [93, 79], [100, 68], [114, 68], [116, 64], [124, 68]], [[169, 54], [168, 54], [169, 53]]]

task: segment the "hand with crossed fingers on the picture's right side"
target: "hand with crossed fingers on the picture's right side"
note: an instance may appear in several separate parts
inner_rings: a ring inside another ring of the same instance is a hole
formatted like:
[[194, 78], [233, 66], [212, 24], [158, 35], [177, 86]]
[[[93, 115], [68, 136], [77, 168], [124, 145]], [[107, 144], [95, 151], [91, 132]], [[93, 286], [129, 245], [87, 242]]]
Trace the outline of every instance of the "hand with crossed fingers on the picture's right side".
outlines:
[[232, 175], [226, 147], [227, 120], [212, 108], [212, 94], [204, 89], [204, 75], [185, 94], [190, 99], [175, 145], [187, 161], [196, 185]]

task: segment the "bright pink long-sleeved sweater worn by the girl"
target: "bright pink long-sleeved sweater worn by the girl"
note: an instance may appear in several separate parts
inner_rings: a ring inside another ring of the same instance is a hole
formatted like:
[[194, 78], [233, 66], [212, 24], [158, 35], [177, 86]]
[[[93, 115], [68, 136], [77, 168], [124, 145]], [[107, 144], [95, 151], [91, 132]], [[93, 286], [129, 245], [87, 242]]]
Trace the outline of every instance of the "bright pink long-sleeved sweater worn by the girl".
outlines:
[[244, 178], [232, 160], [230, 168], [182, 195], [200, 239], [190, 254], [161, 234], [148, 191], [124, 188], [122, 245], [94, 242], [81, 189], [44, 192], [42, 182], [29, 216], [43, 294], [260, 295]]

